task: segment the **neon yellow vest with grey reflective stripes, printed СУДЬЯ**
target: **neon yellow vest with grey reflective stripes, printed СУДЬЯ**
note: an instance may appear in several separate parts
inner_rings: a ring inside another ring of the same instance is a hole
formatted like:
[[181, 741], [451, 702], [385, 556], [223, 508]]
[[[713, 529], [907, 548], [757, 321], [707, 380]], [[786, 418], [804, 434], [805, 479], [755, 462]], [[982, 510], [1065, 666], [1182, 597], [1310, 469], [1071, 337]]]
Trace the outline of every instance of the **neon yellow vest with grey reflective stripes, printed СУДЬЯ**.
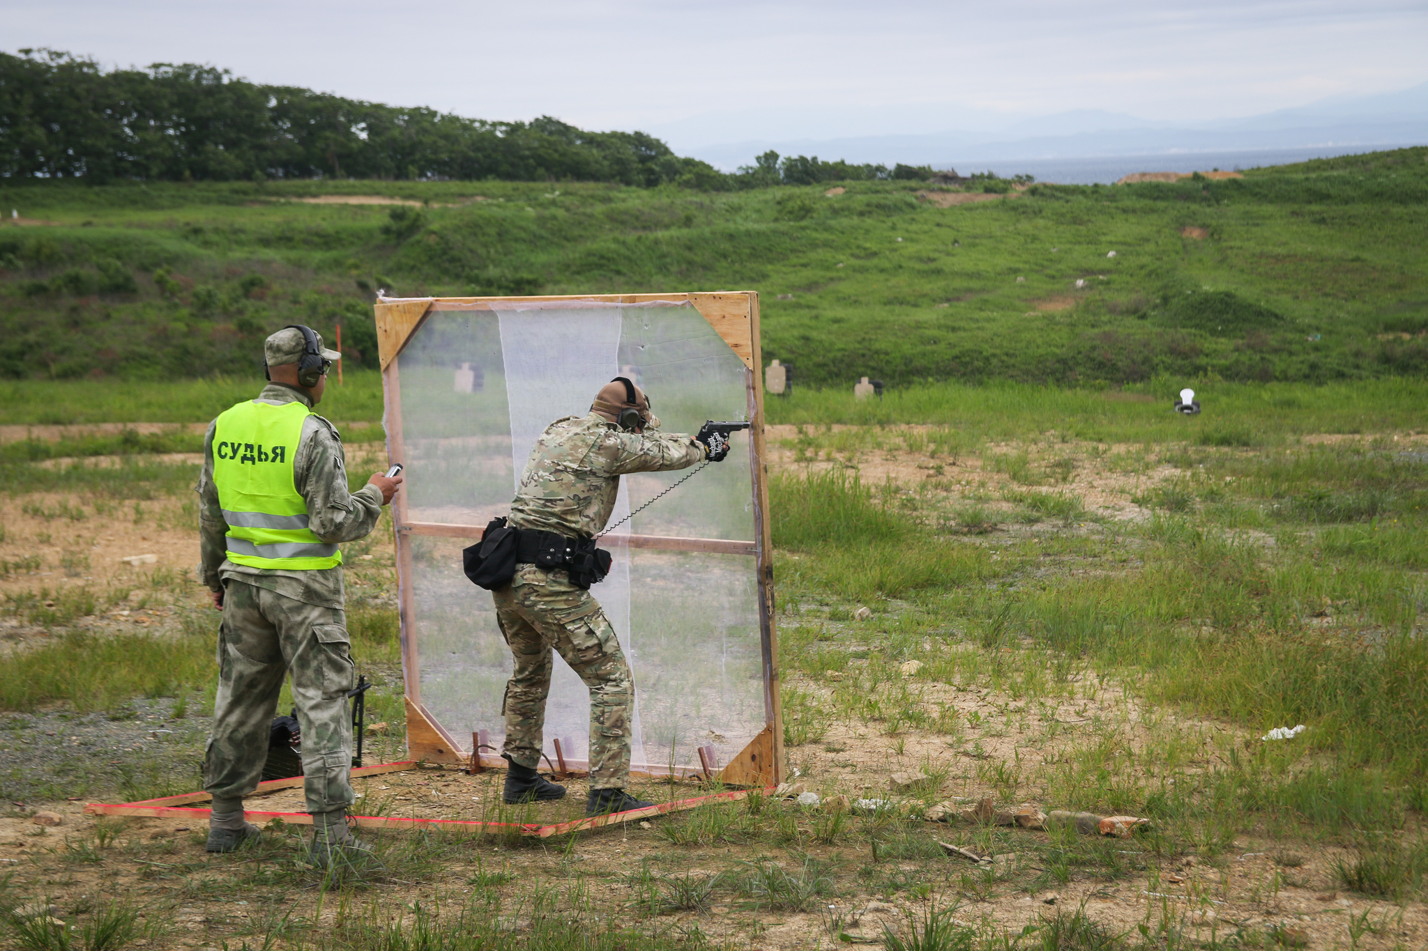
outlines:
[[234, 565], [318, 570], [343, 563], [337, 546], [308, 528], [307, 502], [293, 479], [293, 456], [311, 412], [298, 401], [281, 406], [246, 401], [218, 415], [213, 482]]

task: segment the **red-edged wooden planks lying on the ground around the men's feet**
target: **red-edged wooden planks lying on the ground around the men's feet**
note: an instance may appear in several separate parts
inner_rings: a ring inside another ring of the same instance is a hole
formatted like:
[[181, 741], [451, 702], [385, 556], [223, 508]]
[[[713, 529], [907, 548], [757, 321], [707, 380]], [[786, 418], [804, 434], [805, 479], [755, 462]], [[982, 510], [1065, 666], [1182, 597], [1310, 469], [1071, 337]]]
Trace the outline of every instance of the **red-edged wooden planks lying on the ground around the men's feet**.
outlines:
[[[398, 763], [381, 763], [378, 766], [360, 766], [353, 768], [354, 777], [363, 776], [380, 776], [383, 773], [404, 773], [407, 770], [423, 768], [421, 763], [413, 760], [403, 760]], [[293, 788], [301, 786], [306, 780], [301, 776], [296, 776], [287, 780], [268, 780], [266, 783], [258, 783], [257, 793], [254, 796], [263, 796], [266, 793], [277, 793], [280, 790]], [[681, 813], [684, 810], [695, 808], [704, 806], [705, 803], [727, 803], [741, 800], [755, 790], [728, 790], [723, 793], [710, 793], [708, 796], [693, 796], [690, 798], [671, 800], [668, 803], [657, 803], [648, 808], [635, 808], [628, 813], [613, 813], [610, 816], [594, 816], [590, 818], [577, 818], [568, 823], [483, 823], [477, 820], [466, 818], [416, 818], [416, 817], [401, 817], [401, 816], [353, 816], [351, 820], [361, 828], [394, 828], [398, 831], [413, 831], [420, 828], [446, 828], [453, 831], [470, 831], [470, 833], [517, 833], [520, 836], [533, 836], [536, 838], [550, 838], [551, 836], [567, 836], [570, 833], [580, 833], [594, 828], [601, 828], [604, 826], [615, 826], [623, 823], [633, 823], [641, 818], [651, 818], [654, 816], [665, 816], [668, 813]], [[773, 794], [774, 787], [765, 787], [757, 790], [764, 796]], [[204, 823], [213, 813], [210, 808], [191, 808], [193, 803], [203, 803], [211, 800], [213, 796], [208, 793], [184, 793], [181, 796], [166, 796], [163, 798], [147, 798], [139, 800], [136, 803], [87, 803], [84, 806], [86, 816], [136, 816], [144, 818], [174, 818], [187, 820], [190, 823]], [[313, 817], [307, 813], [286, 813], [286, 811], [260, 811], [260, 810], [244, 810], [244, 814], [250, 823], [266, 823], [274, 818], [283, 820], [288, 826], [311, 826]]]

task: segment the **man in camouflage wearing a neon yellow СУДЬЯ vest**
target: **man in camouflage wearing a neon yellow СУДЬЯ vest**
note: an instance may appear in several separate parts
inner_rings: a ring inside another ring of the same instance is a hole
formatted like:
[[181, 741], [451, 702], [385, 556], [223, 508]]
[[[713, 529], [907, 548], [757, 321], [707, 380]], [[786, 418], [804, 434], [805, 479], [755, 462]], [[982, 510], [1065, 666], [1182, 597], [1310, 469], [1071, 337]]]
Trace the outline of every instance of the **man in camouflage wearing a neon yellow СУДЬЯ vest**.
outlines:
[[337, 429], [311, 411], [340, 354], [304, 329], [267, 338], [268, 385], [221, 413], [204, 438], [198, 576], [223, 610], [204, 790], [213, 794], [208, 851], [257, 841], [243, 797], [257, 788], [290, 673], [316, 830], [310, 857], [326, 865], [370, 851], [347, 828], [354, 666], [336, 543], [373, 530], [401, 476], [373, 473], [348, 493]]

